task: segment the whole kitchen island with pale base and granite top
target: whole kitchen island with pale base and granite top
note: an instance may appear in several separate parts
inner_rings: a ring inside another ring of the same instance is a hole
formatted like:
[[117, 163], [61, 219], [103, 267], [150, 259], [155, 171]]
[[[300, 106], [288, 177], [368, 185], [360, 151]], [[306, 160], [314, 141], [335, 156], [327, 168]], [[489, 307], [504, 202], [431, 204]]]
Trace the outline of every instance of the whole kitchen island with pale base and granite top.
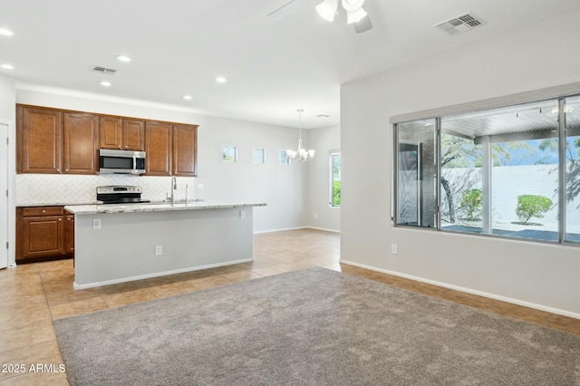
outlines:
[[67, 206], [74, 288], [253, 261], [253, 207], [189, 202]]

